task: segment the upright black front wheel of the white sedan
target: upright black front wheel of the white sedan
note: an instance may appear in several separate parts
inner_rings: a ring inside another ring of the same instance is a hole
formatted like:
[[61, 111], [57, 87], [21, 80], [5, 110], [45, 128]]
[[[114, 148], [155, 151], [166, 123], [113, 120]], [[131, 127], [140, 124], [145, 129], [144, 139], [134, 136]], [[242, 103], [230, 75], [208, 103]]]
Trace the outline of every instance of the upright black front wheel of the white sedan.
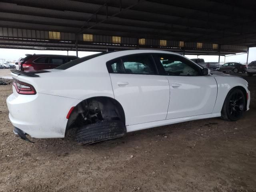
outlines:
[[242, 117], [245, 109], [245, 96], [242, 90], [234, 88], [228, 92], [221, 110], [221, 118], [236, 121]]

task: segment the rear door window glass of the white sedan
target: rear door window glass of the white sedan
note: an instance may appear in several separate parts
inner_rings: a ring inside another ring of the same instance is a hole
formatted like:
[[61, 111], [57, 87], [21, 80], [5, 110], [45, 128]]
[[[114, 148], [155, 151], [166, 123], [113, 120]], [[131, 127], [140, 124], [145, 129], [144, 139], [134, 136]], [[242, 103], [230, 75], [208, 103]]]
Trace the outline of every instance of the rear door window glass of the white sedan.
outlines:
[[157, 74], [151, 55], [132, 55], [122, 58], [127, 74]]

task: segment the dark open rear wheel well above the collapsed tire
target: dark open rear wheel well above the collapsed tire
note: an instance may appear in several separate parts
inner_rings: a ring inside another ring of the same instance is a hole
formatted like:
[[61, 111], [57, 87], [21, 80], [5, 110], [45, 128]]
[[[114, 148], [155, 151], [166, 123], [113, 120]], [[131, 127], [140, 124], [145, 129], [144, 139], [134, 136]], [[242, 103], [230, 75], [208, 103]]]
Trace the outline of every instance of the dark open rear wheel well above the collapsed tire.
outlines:
[[[95, 112], [94, 115], [93, 113]], [[125, 113], [122, 105], [114, 98], [108, 96], [96, 96], [87, 98], [78, 103], [66, 125], [67, 130], [79, 126], [79, 124], [90, 124], [90, 116], [92, 116], [92, 121], [97, 120], [120, 120], [125, 126]], [[89, 118], [88, 118], [89, 117]], [[85, 118], [88, 118], [84, 121]], [[84, 122], [81, 122], [84, 121]], [[92, 122], [93, 123], [93, 122]]]

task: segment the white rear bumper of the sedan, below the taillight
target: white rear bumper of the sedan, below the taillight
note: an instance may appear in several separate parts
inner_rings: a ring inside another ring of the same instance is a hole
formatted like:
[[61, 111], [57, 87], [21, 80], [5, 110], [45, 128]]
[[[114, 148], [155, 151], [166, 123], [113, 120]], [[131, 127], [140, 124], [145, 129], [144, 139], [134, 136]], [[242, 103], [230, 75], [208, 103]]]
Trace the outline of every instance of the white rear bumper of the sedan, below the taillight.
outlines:
[[40, 93], [13, 93], [6, 100], [13, 126], [34, 138], [63, 138], [66, 115], [78, 102], [80, 100]]

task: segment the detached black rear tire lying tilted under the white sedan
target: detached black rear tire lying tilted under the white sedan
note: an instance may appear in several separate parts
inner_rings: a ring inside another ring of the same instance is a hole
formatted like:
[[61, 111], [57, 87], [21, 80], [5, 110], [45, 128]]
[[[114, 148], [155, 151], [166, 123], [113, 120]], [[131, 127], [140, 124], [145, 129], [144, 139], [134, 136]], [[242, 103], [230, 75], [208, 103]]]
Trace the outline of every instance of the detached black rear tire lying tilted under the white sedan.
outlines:
[[125, 133], [126, 128], [122, 121], [102, 121], [80, 127], [76, 133], [76, 140], [79, 144], [92, 144], [103, 140], [120, 138]]

